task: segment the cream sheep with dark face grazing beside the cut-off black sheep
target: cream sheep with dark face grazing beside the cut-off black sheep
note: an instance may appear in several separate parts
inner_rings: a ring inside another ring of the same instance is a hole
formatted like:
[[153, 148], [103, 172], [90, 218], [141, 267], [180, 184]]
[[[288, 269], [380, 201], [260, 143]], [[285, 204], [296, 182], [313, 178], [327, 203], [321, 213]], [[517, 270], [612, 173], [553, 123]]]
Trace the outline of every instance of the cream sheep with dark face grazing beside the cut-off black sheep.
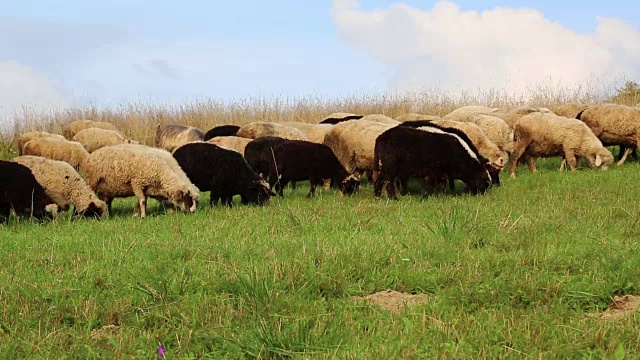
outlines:
[[73, 205], [74, 212], [82, 216], [102, 216], [107, 209], [89, 185], [71, 165], [64, 161], [40, 156], [18, 156], [13, 159], [29, 169], [44, 191], [61, 210]]

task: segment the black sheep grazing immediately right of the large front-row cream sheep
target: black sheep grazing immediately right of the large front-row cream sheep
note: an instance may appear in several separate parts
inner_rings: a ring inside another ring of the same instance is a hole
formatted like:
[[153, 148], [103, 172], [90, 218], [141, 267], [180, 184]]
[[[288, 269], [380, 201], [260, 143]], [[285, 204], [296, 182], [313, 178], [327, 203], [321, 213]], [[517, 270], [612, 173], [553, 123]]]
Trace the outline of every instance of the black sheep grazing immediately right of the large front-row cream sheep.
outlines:
[[243, 204], [264, 205], [273, 194], [239, 153], [209, 143], [186, 144], [173, 153], [189, 179], [200, 191], [211, 191], [211, 205], [222, 200], [232, 206], [234, 195]]

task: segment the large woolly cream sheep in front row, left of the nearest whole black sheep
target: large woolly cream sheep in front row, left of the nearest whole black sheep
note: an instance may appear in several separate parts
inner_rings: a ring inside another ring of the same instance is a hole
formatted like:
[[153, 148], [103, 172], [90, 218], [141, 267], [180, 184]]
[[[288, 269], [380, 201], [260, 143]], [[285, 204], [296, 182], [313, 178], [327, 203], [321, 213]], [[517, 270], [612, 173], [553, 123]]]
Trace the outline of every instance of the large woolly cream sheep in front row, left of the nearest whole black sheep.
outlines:
[[107, 146], [94, 151], [87, 160], [87, 183], [107, 203], [109, 214], [116, 197], [135, 196], [134, 214], [146, 216], [147, 196], [166, 199], [183, 211], [193, 206], [192, 184], [181, 179], [160, 156], [132, 148]]

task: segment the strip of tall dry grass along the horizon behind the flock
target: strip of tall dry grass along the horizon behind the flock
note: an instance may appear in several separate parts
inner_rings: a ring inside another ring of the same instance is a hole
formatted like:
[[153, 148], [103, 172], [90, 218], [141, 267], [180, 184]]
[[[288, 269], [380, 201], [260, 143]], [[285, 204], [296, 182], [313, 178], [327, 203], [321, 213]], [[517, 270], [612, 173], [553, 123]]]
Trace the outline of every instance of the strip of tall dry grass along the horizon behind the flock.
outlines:
[[[575, 89], [532, 87], [521, 94], [501, 89], [460, 91], [451, 94], [438, 90], [397, 94], [355, 94], [344, 98], [303, 96], [298, 98], [247, 98], [237, 101], [209, 99], [172, 106], [162, 103], [131, 102], [113, 107], [84, 106], [51, 109], [46, 112], [23, 108], [14, 125], [0, 138], [0, 151], [14, 149], [16, 138], [27, 131], [62, 133], [65, 124], [81, 119], [108, 121], [132, 139], [152, 144], [157, 125], [185, 124], [207, 130], [223, 124], [241, 125], [252, 121], [302, 121], [317, 123], [333, 112], [385, 114], [391, 117], [417, 112], [443, 116], [465, 105], [537, 106], [554, 109], [558, 105], [578, 102], [605, 102], [616, 94], [615, 86], [586, 84]], [[618, 102], [635, 105], [640, 98], [623, 98]], [[6, 152], [6, 151], [5, 151]]]

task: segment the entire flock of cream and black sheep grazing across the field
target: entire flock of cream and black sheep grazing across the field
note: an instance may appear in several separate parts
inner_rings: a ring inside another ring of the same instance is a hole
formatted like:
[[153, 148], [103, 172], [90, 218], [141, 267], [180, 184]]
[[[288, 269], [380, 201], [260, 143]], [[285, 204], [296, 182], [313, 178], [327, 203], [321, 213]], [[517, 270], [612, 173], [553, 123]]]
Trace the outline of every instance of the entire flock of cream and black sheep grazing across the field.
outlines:
[[[640, 104], [639, 104], [640, 105]], [[114, 198], [135, 196], [134, 214], [146, 215], [147, 198], [168, 209], [194, 212], [200, 193], [210, 203], [263, 205], [298, 181], [336, 187], [350, 195], [366, 176], [376, 197], [389, 198], [419, 179], [423, 196], [455, 180], [472, 193], [500, 184], [510, 161], [536, 171], [535, 159], [563, 159], [571, 170], [585, 159], [606, 170], [614, 161], [605, 146], [621, 147], [618, 164], [638, 146], [640, 107], [566, 104], [547, 108], [465, 106], [444, 117], [334, 113], [319, 124], [252, 122], [206, 133], [183, 125], [158, 126], [155, 147], [128, 139], [107, 122], [67, 124], [63, 135], [28, 132], [19, 156], [0, 161], [0, 222], [10, 212], [35, 218], [74, 214], [102, 217]], [[82, 175], [81, 175], [82, 174]], [[275, 193], [274, 193], [275, 190]]]

